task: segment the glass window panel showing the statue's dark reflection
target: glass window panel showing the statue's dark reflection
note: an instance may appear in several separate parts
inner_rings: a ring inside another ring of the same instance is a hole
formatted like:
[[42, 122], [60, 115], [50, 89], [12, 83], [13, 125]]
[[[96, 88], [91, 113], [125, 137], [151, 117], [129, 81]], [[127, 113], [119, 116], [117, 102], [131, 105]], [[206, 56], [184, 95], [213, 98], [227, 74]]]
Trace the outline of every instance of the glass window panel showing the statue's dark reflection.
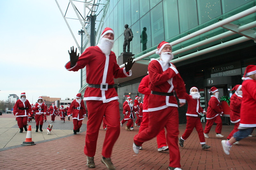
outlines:
[[[151, 32], [151, 27], [150, 27], [150, 13], [148, 12], [146, 15], [144, 15], [142, 18], [140, 18], [140, 33], [142, 33], [143, 28], [146, 28], [146, 33], [144, 33], [144, 37], [147, 37], [146, 39], [143, 37], [141, 43], [144, 43], [144, 48], [141, 51], [144, 51], [147, 48], [151, 47], [151, 36], [150, 36], [150, 32]], [[141, 46], [143, 47], [143, 44], [141, 44]]]

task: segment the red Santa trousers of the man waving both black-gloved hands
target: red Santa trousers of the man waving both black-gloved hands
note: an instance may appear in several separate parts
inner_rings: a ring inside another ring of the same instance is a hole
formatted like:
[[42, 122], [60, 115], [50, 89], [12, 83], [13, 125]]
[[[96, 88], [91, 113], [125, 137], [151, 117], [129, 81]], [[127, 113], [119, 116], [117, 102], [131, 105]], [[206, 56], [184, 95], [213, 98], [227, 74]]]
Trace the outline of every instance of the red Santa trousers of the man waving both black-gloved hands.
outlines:
[[102, 156], [110, 158], [112, 148], [120, 134], [120, 112], [118, 100], [112, 100], [108, 103], [97, 100], [87, 100], [88, 121], [85, 137], [84, 153], [89, 157], [94, 157], [96, 152], [97, 139], [103, 116], [107, 131], [102, 148]]

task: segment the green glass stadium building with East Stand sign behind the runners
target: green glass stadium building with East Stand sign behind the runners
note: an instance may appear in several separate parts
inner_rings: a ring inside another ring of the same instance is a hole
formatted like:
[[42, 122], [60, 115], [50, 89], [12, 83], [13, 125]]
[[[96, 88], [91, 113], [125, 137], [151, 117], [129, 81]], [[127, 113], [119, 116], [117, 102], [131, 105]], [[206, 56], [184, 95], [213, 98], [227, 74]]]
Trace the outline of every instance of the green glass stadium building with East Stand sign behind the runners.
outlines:
[[[128, 24], [134, 35], [131, 41], [130, 52], [137, 58], [156, 49], [161, 41], [172, 42], [178, 40], [207, 26], [211, 26], [220, 20], [252, 8], [255, 5], [255, 0], [101, 0], [99, 1], [96, 11], [96, 44], [105, 27], [113, 28], [115, 32], [115, 42], [112, 51], [114, 51], [118, 57], [123, 52], [124, 25]], [[255, 18], [255, 13], [253, 13], [232, 23], [243, 26], [249, 22], [255, 21]], [[255, 31], [255, 27], [251, 28], [251, 30]], [[177, 51], [227, 31], [227, 29], [222, 27], [216, 28], [173, 46], [173, 51]], [[234, 34], [229, 37], [224, 37], [218, 41], [213, 41], [176, 54], [174, 59], [241, 36], [242, 35]], [[84, 37], [83, 42], [84, 48], [90, 46], [86, 37]], [[237, 52], [237, 50], [239, 51]], [[207, 84], [206, 81], [211, 78], [221, 77], [225, 79], [225, 77], [229, 78], [231, 76], [230, 81], [227, 83], [221, 84], [221, 82], [219, 82], [219, 84], [213, 84], [223, 89], [222, 95], [229, 95], [225, 88], [242, 83], [238, 78], [241, 79], [244, 68], [247, 65], [256, 64], [254, 56], [254, 42], [246, 41], [239, 45], [216, 50], [191, 60], [176, 63], [176, 66], [178, 66], [178, 70], [185, 81], [188, 91], [192, 86], [197, 86], [198, 89], [201, 89], [201, 106], [204, 108], [207, 107], [207, 101], [209, 100], [207, 99], [209, 96], [206, 91], [209, 87], [211, 88], [211, 85]], [[143, 60], [158, 57], [158, 55], [154, 54]], [[223, 70], [223, 68], [225, 69]], [[125, 100], [123, 95], [134, 95], [132, 98], [134, 98], [135, 95], [143, 97], [137, 90], [143, 77], [144, 76], [122, 82], [117, 86], [116, 89], [120, 98], [120, 110], [122, 110], [122, 102]], [[84, 89], [83, 87], [85, 87], [85, 85], [86, 72], [85, 69], [83, 69], [81, 72], [81, 90]], [[186, 113], [186, 107], [179, 109], [179, 112]], [[185, 123], [186, 117], [183, 116], [180, 120], [180, 123]]]

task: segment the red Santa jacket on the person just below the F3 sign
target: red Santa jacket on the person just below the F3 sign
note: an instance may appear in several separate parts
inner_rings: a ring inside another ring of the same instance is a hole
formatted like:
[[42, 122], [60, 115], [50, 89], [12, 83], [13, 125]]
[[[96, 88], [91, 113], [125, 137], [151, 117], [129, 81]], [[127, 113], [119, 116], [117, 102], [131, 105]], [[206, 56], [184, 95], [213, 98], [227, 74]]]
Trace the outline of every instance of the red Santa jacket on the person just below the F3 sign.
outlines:
[[223, 110], [220, 106], [219, 99], [217, 99], [214, 95], [211, 95], [211, 99], [208, 102], [206, 119], [213, 119], [218, 115], [222, 116], [222, 114]]

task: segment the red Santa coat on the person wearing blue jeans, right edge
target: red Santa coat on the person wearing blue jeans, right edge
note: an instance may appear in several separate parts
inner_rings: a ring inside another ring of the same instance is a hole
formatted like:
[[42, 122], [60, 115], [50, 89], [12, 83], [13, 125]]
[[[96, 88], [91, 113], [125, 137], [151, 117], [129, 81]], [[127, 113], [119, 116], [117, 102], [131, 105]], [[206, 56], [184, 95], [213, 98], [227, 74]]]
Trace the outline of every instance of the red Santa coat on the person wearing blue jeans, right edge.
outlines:
[[240, 110], [241, 127], [256, 127], [256, 80], [245, 78], [242, 83], [243, 100]]

